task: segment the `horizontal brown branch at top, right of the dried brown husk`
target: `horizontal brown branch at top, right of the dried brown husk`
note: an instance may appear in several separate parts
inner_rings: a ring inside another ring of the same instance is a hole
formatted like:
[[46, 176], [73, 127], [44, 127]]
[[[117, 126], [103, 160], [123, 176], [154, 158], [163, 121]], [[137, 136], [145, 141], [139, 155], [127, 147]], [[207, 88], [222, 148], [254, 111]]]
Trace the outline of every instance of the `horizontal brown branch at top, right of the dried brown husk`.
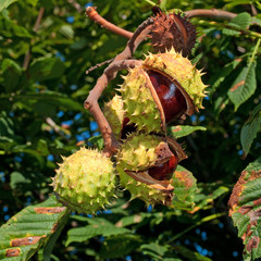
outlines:
[[236, 13], [223, 11], [223, 10], [216, 10], [216, 9], [195, 9], [190, 11], [186, 11], [185, 14], [187, 17], [212, 17], [212, 18], [225, 18], [225, 20], [232, 20], [237, 16]]

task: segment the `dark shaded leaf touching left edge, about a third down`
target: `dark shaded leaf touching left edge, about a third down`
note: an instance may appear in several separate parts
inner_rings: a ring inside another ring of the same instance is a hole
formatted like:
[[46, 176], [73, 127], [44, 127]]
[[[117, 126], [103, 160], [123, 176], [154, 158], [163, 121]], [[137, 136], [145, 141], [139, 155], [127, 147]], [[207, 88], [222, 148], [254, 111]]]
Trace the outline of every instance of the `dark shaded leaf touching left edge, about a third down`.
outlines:
[[13, 60], [4, 59], [2, 61], [1, 71], [3, 76], [2, 84], [7, 92], [11, 92], [18, 84], [20, 76], [22, 74], [22, 69]]

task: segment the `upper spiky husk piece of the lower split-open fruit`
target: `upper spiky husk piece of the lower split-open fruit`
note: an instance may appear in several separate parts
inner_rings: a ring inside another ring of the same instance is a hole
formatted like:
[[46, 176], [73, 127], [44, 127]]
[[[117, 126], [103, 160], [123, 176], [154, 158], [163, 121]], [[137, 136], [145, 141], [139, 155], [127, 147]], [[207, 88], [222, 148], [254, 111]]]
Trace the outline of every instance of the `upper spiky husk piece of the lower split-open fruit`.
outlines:
[[129, 135], [119, 150], [117, 170], [145, 171], [154, 165], [158, 157], [157, 148], [164, 144], [161, 137], [134, 133]]

